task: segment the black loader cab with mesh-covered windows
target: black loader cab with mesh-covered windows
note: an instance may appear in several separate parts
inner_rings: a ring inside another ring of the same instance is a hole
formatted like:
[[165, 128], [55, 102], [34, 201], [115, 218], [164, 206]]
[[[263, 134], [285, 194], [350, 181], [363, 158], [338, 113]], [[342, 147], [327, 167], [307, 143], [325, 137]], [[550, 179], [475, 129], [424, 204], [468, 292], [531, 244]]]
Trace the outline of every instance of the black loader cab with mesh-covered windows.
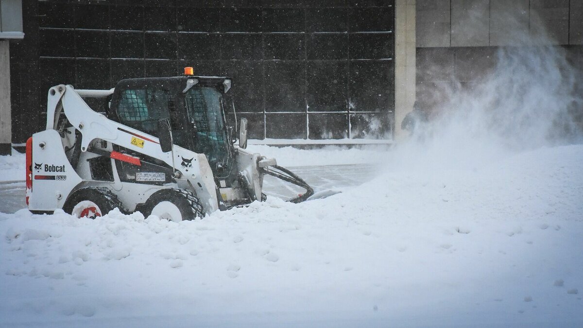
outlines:
[[174, 144], [204, 153], [215, 176], [224, 176], [234, 152], [225, 117], [230, 85], [225, 77], [125, 79], [115, 86], [108, 115], [154, 137], [158, 121], [167, 118]]

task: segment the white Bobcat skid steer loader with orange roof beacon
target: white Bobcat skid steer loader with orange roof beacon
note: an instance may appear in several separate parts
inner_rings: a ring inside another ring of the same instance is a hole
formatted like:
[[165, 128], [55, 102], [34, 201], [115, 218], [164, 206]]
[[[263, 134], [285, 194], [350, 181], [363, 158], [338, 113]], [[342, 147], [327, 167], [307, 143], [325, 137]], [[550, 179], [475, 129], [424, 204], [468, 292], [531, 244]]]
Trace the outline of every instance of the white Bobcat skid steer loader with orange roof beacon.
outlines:
[[[234, 111], [231, 83], [185, 68], [184, 76], [124, 79], [110, 90], [53, 86], [47, 127], [26, 143], [29, 210], [95, 218], [117, 207], [172, 221], [202, 218], [264, 201], [266, 174], [306, 190], [290, 201], [307, 200], [313, 190], [300, 177], [245, 151], [244, 118], [236, 145], [225, 113]], [[103, 114], [88, 98], [101, 98]]]

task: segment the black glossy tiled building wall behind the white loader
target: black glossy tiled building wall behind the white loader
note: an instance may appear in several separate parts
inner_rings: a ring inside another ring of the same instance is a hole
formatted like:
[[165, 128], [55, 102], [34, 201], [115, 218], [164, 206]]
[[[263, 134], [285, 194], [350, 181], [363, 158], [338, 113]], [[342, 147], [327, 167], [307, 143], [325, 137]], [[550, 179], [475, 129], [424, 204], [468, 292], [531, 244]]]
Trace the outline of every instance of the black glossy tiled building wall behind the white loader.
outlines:
[[233, 77], [237, 116], [250, 121], [250, 138], [392, 135], [393, 0], [23, 6], [27, 37], [10, 62], [15, 142], [42, 128], [52, 85], [108, 89], [122, 78], [179, 75], [185, 66]]

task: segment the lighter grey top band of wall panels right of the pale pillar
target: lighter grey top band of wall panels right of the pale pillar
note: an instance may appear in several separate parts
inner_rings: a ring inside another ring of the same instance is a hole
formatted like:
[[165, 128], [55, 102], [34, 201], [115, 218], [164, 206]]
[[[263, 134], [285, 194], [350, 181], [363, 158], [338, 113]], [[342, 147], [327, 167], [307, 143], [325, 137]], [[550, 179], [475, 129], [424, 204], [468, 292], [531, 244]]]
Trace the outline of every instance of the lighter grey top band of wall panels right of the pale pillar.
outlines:
[[583, 1], [417, 0], [419, 48], [512, 46], [538, 25], [553, 44], [583, 44]]

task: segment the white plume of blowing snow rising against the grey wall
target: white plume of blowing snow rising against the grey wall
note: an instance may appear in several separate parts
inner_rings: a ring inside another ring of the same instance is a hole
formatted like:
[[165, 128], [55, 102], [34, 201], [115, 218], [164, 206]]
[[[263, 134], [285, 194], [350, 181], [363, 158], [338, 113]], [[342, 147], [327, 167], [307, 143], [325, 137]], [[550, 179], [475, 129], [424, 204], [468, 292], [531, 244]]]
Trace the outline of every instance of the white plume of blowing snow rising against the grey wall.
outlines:
[[581, 141], [581, 72], [568, 62], [565, 48], [549, 46], [555, 42], [543, 27], [520, 30], [512, 29], [513, 46], [500, 47], [494, 68], [470, 88], [454, 81], [430, 93], [439, 103], [435, 115], [402, 150], [417, 149], [432, 160], [445, 154], [448, 162], [482, 162], [508, 151]]

